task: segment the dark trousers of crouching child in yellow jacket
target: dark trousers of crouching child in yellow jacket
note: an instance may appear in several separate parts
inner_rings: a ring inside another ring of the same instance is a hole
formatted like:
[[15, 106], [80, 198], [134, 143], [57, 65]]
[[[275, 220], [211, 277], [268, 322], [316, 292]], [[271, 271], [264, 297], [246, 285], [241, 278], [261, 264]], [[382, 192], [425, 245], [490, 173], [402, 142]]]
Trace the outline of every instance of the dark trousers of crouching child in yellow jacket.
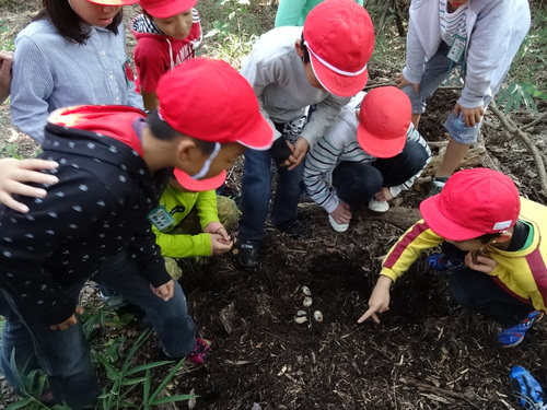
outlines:
[[451, 273], [449, 292], [458, 305], [496, 320], [503, 328], [521, 323], [534, 309], [505, 292], [492, 277], [467, 267]]

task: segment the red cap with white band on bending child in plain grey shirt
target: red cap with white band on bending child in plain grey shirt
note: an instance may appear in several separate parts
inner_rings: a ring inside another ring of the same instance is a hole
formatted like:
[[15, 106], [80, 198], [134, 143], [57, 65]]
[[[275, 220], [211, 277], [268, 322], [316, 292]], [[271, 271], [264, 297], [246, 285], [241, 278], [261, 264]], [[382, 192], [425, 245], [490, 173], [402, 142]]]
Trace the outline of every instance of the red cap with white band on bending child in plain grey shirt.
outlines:
[[374, 27], [352, 0], [326, 0], [304, 21], [304, 45], [313, 72], [329, 93], [352, 96], [366, 84], [366, 62], [374, 49]]

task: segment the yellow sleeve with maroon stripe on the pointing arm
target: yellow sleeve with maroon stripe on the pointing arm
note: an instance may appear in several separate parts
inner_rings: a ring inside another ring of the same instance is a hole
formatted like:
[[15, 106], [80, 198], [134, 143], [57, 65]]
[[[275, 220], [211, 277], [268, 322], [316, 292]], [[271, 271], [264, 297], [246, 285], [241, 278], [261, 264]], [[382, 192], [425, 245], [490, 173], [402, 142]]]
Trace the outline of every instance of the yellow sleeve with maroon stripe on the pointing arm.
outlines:
[[443, 241], [441, 236], [431, 231], [423, 220], [417, 222], [389, 249], [382, 263], [380, 274], [384, 274], [395, 282], [410, 268], [423, 250], [432, 248]]

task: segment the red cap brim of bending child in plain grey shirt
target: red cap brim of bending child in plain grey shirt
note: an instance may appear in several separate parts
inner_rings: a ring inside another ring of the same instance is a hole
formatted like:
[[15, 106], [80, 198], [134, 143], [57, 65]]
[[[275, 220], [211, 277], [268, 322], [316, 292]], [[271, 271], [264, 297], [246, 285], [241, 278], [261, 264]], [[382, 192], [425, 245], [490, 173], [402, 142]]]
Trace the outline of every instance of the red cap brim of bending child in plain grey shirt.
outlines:
[[312, 52], [310, 52], [310, 61], [313, 72], [321, 85], [330, 94], [340, 97], [351, 97], [356, 95], [364, 89], [369, 80], [369, 70], [364, 70], [358, 75], [342, 75], [321, 63]]

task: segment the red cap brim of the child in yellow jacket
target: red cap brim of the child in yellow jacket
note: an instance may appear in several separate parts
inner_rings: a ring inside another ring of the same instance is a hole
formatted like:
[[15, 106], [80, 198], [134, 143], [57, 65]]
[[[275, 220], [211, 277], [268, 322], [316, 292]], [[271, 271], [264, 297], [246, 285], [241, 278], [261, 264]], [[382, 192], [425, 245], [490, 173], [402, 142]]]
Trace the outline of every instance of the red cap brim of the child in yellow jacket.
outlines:
[[467, 226], [461, 226], [449, 220], [441, 212], [440, 200], [441, 194], [427, 198], [420, 203], [420, 213], [435, 234], [449, 241], [468, 241], [485, 234]]

